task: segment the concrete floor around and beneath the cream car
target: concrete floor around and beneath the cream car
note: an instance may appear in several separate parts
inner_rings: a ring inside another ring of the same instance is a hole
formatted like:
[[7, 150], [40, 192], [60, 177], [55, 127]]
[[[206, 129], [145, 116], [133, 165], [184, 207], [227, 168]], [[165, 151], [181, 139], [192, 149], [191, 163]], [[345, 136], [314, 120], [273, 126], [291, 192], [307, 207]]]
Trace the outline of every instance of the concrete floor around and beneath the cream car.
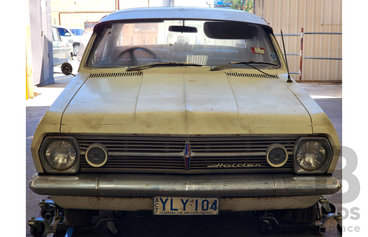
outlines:
[[[76, 62], [73, 62], [76, 64]], [[76, 64], [77, 65], [77, 64]], [[78, 65], [77, 65], [78, 66]], [[74, 70], [77, 69], [73, 65]], [[75, 69], [76, 68], [76, 69]], [[73, 72], [74, 72], [73, 70]], [[38, 202], [43, 195], [33, 193], [29, 188], [29, 180], [36, 172], [33, 165], [30, 152], [33, 133], [35, 132], [38, 122], [49, 106], [60, 94], [72, 76], [64, 76], [60, 73], [55, 73], [55, 84], [46, 87], [35, 88], [35, 92], [39, 96], [33, 100], [26, 101], [26, 222], [31, 216], [39, 217], [40, 208]], [[342, 85], [335, 84], [320, 84], [318, 83], [300, 83], [300, 85], [315, 99], [320, 107], [325, 111], [332, 121], [337, 134], [342, 143]], [[335, 177], [342, 181], [342, 157], [339, 158]], [[327, 196], [333, 204], [336, 205], [336, 210], [342, 209], [342, 190], [336, 194]], [[101, 215], [107, 215], [110, 212], [102, 211]], [[124, 236], [263, 236], [259, 233], [257, 221], [251, 212], [224, 212], [218, 216], [153, 216], [152, 212], [128, 212], [128, 216], [124, 219]], [[280, 232], [272, 236], [282, 237], [310, 237], [310, 236], [326, 236], [335, 237], [341, 236], [336, 230], [335, 220], [329, 220], [326, 223], [325, 234], [318, 234], [316, 231], [289, 231]], [[46, 232], [45, 232], [46, 233]], [[26, 224], [26, 236], [31, 237], [29, 227]], [[43, 236], [46, 236], [44, 234]], [[75, 233], [74, 237], [104, 237], [107, 234], [106, 226], [101, 224], [96, 230], [91, 232]]]

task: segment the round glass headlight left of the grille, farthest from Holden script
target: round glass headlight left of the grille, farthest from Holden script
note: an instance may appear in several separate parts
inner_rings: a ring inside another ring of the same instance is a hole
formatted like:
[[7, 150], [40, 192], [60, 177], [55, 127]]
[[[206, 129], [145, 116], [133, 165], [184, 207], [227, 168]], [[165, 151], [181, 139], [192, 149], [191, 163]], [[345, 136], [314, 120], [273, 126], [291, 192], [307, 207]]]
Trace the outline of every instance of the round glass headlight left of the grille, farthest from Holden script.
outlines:
[[46, 162], [53, 169], [65, 170], [71, 168], [77, 160], [75, 147], [67, 140], [54, 140], [45, 150]]

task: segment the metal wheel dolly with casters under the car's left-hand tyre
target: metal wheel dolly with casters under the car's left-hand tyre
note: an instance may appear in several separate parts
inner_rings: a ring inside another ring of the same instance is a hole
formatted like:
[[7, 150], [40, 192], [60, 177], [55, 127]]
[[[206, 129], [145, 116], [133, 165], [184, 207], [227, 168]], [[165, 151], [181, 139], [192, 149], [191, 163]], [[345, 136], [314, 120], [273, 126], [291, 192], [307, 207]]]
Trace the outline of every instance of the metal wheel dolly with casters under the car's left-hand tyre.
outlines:
[[[42, 236], [45, 232], [45, 228], [47, 227], [47, 237], [72, 237], [75, 227], [67, 227], [62, 223], [63, 208], [57, 206], [52, 200], [44, 199], [42, 199], [38, 205], [41, 207], [41, 217], [35, 218], [32, 216], [31, 219], [28, 220], [28, 225], [31, 227], [32, 236]], [[91, 223], [90, 226], [78, 228], [78, 230], [96, 229], [101, 222], [106, 223], [108, 228], [107, 231], [110, 236], [120, 237], [123, 235], [123, 226], [111, 216], [101, 217], [97, 223]]]

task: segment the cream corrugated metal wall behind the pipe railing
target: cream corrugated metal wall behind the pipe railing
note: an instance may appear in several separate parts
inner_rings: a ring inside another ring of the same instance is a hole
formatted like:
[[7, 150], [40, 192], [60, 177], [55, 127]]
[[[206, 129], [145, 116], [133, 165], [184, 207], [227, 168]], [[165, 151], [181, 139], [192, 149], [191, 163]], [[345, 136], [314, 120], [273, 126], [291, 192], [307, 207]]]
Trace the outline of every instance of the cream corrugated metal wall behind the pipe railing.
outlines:
[[[254, 14], [273, 33], [342, 32], [342, 0], [254, 0]], [[276, 36], [282, 48], [281, 36]], [[304, 57], [342, 58], [342, 35], [304, 35]], [[286, 53], [300, 53], [300, 36], [284, 36]], [[288, 55], [290, 72], [300, 71], [300, 57]], [[298, 74], [292, 74], [298, 80]], [[342, 80], [342, 60], [303, 59], [302, 80]]]

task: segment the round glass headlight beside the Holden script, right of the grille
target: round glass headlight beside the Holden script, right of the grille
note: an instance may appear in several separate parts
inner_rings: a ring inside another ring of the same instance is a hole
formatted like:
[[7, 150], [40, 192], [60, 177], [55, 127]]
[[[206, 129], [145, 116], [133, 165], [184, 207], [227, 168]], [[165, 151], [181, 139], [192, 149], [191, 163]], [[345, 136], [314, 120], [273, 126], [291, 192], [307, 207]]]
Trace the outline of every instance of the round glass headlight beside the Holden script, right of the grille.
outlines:
[[306, 141], [302, 143], [296, 153], [298, 165], [305, 170], [316, 170], [325, 164], [327, 152], [325, 146], [319, 141]]

